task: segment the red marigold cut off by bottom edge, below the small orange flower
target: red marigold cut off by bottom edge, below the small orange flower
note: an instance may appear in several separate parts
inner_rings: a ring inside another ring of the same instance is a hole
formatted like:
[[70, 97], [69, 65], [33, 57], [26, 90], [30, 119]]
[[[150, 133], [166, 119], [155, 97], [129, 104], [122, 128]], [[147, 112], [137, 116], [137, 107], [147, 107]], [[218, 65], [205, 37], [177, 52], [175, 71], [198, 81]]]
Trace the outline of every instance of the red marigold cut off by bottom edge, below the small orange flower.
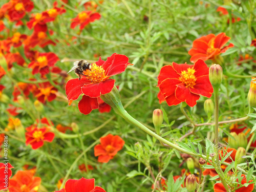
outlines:
[[95, 186], [95, 179], [69, 179], [65, 183], [65, 188], [56, 190], [55, 192], [106, 192], [103, 188]]

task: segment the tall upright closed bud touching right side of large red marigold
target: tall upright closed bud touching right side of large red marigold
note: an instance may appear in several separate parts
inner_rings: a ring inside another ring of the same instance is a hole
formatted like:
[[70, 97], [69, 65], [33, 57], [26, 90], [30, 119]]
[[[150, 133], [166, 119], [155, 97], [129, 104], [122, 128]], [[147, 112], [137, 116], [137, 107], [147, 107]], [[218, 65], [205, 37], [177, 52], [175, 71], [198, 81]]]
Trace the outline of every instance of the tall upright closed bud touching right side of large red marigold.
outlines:
[[220, 65], [214, 64], [210, 67], [209, 79], [212, 87], [220, 87], [222, 81], [222, 68]]

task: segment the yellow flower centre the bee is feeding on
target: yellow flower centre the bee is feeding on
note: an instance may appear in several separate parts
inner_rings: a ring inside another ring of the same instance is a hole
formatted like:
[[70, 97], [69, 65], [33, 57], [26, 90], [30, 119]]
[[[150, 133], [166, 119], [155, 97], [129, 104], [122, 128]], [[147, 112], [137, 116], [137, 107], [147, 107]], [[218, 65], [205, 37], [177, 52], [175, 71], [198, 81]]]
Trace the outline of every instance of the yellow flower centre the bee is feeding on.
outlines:
[[99, 83], [106, 78], [105, 70], [101, 66], [97, 66], [96, 63], [92, 64], [91, 70], [86, 70], [83, 74], [93, 83]]

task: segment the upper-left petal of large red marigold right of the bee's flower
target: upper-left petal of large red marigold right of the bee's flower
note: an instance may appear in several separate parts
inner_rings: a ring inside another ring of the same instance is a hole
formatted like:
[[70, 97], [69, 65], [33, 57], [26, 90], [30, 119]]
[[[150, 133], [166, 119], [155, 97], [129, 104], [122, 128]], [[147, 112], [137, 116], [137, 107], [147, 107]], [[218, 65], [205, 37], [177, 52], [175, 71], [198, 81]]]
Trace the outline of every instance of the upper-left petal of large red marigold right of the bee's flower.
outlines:
[[162, 83], [163, 80], [172, 78], [172, 79], [179, 79], [180, 75], [174, 70], [173, 66], [164, 66], [161, 68], [160, 73], [157, 77], [158, 84], [157, 86]]

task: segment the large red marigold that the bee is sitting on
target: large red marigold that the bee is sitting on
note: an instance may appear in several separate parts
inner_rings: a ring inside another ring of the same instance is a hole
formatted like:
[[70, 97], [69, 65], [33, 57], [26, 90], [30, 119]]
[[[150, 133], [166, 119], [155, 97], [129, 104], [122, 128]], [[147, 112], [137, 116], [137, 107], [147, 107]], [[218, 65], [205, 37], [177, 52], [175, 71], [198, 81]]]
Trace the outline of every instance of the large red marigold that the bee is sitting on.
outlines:
[[108, 57], [106, 61], [99, 58], [98, 61], [92, 63], [91, 70], [83, 72], [84, 76], [81, 76], [80, 80], [78, 78], [69, 80], [66, 84], [69, 105], [84, 94], [78, 103], [79, 111], [87, 115], [93, 109], [98, 109], [99, 96], [110, 93], [114, 88], [115, 80], [109, 78], [124, 72], [127, 66], [132, 65], [128, 60], [129, 58], [125, 55], [116, 53]]

